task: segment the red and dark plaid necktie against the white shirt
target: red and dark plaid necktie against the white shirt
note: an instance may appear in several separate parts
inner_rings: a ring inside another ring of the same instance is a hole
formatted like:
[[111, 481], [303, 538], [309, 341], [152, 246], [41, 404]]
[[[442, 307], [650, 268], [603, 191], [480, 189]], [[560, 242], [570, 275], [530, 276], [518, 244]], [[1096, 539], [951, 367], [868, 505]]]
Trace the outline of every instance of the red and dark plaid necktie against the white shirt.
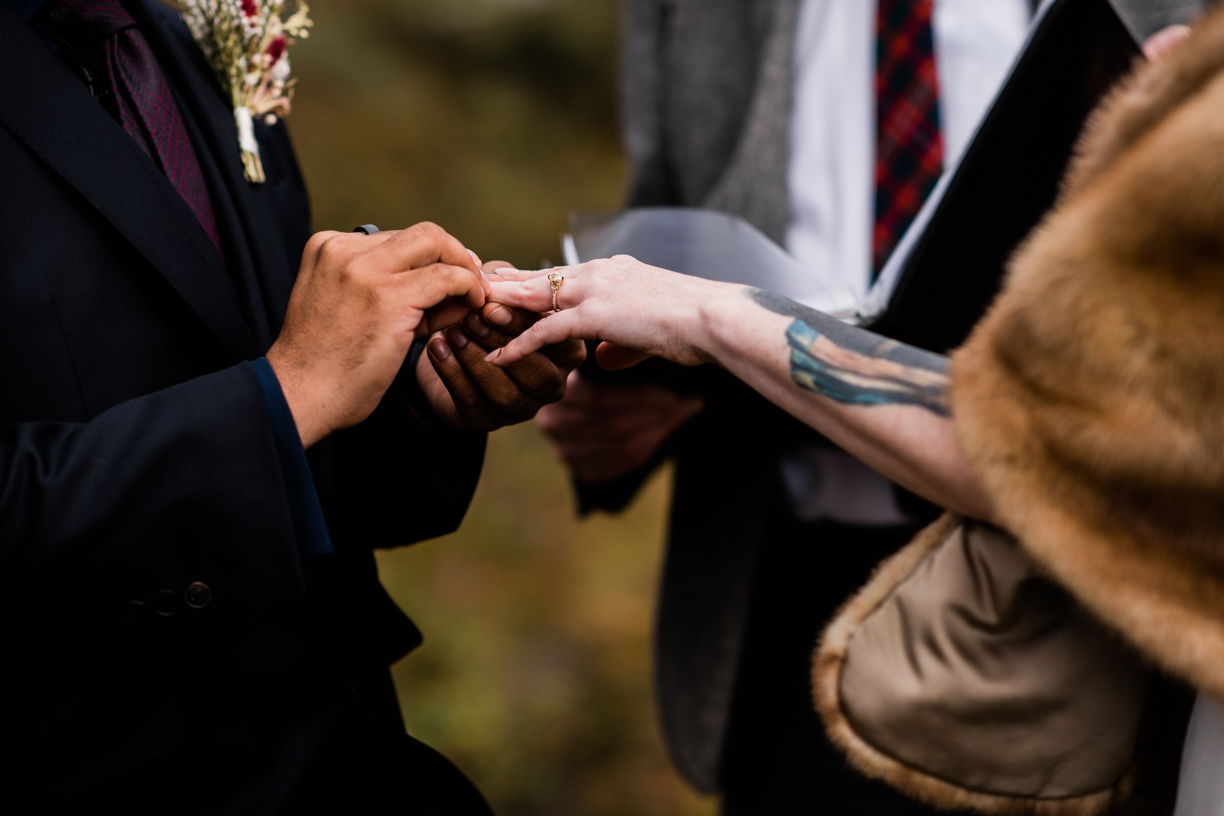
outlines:
[[879, 274], [944, 170], [934, 0], [879, 0], [874, 272]]

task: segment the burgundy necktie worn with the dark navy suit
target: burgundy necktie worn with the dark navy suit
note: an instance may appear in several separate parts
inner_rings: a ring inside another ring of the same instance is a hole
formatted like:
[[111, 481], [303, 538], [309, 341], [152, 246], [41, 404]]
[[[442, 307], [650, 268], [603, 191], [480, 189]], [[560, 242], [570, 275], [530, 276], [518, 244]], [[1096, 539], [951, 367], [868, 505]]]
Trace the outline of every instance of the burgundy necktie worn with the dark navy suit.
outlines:
[[220, 234], [200, 159], [179, 106], [144, 34], [119, 0], [50, 0], [54, 32], [84, 33], [97, 43], [105, 102], [124, 130], [160, 168], [220, 252]]

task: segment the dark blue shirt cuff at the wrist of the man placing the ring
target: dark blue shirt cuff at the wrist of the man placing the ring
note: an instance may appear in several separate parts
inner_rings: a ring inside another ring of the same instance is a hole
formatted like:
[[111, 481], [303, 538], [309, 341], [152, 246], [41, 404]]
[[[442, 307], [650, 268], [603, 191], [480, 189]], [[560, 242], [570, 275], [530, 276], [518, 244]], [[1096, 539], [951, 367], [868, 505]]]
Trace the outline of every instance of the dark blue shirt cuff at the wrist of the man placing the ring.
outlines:
[[285, 491], [289, 494], [289, 511], [297, 536], [297, 553], [302, 560], [327, 555], [334, 552], [332, 537], [327, 532], [323, 506], [315, 491], [315, 477], [310, 472], [310, 462], [306, 461], [306, 451], [297, 434], [297, 423], [294, 422], [289, 402], [285, 401], [285, 393], [280, 390], [280, 380], [277, 379], [277, 372], [272, 371], [272, 365], [266, 357], [252, 361], [251, 368], [255, 369], [259, 388], [263, 389], [263, 401], [268, 404], [268, 415], [272, 417], [272, 438], [277, 444], [280, 472], [284, 475]]

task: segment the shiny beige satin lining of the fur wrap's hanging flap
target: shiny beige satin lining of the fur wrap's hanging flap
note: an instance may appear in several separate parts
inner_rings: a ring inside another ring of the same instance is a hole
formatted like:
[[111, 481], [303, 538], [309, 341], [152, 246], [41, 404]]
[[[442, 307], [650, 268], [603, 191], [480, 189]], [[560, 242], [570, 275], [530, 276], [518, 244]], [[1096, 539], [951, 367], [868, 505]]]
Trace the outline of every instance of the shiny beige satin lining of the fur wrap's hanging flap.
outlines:
[[1065, 799], [1131, 767], [1148, 670], [1036, 571], [961, 524], [851, 636], [846, 718], [901, 763], [988, 794]]

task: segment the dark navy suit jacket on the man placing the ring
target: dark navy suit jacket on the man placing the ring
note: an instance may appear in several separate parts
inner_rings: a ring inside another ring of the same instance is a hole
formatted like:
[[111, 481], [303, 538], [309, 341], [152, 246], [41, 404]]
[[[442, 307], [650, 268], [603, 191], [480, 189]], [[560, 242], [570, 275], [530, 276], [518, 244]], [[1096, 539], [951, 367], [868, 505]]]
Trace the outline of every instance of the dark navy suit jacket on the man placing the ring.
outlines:
[[185, 783], [198, 767], [217, 810], [271, 810], [337, 718], [403, 734], [388, 666], [420, 635], [373, 549], [454, 530], [485, 438], [420, 426], [393, 389], [310, 451], [335, 553], [300, 559], [250, 361], [310, 234], [302, 177], [284, 126], [259, 122], [268, 181], [247, 184], [181, 20], [127, 5], [200, 155], [225, 263], [0, 2], [0, 734], [20, 754], [0, 790], [80, 795], [157, 762]]

